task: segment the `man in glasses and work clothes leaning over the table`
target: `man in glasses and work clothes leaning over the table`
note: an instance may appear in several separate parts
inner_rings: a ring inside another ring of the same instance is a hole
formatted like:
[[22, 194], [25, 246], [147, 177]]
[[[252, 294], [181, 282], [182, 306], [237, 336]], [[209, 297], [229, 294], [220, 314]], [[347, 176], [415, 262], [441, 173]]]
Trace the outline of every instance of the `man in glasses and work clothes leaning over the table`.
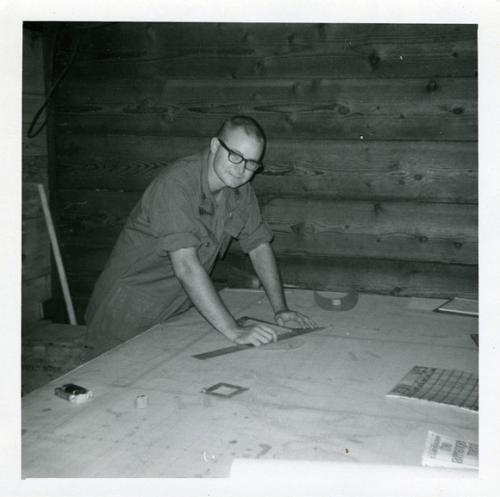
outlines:
[[280, 325], [313, 326], [289, 310], [249, 181], [262, 167], [265, 137], [250, 117], [227, 119], [207, 150], [153, 180], [130, 214], [90, 299], [88, 342], [97, 353], [187, 310], [191, 304], [237, 344], [276, 340], [270, 326], [239, 326], [209, 274], [231, 238], [249, 254]]

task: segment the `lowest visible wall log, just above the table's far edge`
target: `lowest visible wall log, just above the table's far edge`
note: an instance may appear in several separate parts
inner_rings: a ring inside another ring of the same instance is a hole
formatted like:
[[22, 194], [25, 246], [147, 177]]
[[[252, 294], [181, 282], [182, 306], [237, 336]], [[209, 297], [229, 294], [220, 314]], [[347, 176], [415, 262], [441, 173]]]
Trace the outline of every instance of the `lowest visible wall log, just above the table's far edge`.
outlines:
[[[73, 254], [73, 271], [68, 278], [75, 299], [88, 300], [98, 276], [98, 272], [90, 272], [95, 265], [90, 267], [88, 262], [103, 255], [92, 250]], [[367, 293], [436, 298], [477, 298], [478, 294], [478, 271], [474, 265], [283, 256], [278, 256], [278, 263], [284, 283], [299, 288], [336, 291], [355, 286]], [[247, 256], [228, 254], [217, 263], [212, 279], [219, 287], [224, 283], [252, 287], [255, 273]]]

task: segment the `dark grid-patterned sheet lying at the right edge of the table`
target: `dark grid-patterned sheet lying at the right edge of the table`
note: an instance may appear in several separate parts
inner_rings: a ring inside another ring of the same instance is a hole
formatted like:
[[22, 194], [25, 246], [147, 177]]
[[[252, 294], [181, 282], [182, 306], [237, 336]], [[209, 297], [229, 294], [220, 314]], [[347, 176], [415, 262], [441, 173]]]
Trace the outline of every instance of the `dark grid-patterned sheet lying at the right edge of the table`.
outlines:
[[478, 377], [455, 369], [414, 366], [387, 394], [478, 410]]

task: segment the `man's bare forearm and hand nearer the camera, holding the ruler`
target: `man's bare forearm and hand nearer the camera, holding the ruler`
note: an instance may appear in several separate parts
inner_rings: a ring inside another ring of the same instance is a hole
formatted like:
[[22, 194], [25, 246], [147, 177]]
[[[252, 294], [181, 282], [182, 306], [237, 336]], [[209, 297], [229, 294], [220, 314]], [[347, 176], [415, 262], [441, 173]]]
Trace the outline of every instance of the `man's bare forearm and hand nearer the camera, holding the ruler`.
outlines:
[[200, 313], [229, 340], [255, 346], [276, 341], [276, 332], [265, 324], [239, 326], [217, 293], [201, 265], [196, 249], [187, 247], [170, 252], [175, 275]]

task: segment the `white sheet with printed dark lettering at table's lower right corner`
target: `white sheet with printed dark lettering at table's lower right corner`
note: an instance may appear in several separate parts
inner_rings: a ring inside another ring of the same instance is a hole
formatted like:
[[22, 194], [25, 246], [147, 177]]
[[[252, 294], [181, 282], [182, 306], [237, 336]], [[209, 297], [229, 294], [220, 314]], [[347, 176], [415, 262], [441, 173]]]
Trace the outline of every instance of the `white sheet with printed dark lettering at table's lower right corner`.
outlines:
[[477, 469], [479, 445], [476, 442], [454, 439], [429, 431], [422, 466]]

